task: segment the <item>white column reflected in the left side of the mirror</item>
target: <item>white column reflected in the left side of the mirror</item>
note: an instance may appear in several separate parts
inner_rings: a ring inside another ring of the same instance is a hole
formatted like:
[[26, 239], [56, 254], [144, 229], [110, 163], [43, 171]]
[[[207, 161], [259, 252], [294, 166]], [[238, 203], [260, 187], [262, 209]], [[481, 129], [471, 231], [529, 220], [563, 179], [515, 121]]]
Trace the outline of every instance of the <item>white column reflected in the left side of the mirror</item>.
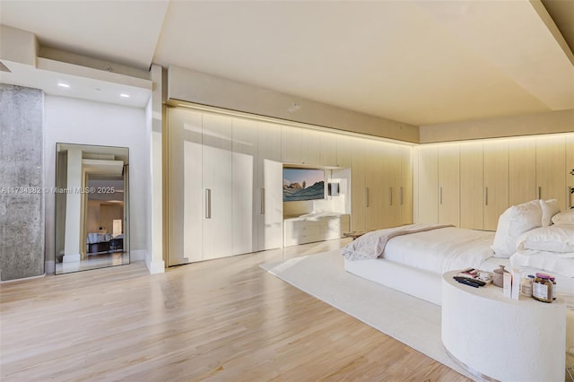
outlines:
[[65, 198], [64, 263], [80, 261], [82, 231], [82, 151], [68, 150], [67, 195]]

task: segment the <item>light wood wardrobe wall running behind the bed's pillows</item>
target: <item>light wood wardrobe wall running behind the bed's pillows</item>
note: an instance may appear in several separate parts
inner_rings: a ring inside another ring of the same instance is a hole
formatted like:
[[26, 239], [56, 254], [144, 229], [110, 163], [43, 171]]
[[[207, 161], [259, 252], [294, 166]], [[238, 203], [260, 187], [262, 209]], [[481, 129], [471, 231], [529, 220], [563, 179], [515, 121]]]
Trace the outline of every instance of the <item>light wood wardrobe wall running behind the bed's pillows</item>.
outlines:
[[422, 144], [415, 161], [418, 222], [496, 230], [510, 205], [572, 205], [574, 134]]

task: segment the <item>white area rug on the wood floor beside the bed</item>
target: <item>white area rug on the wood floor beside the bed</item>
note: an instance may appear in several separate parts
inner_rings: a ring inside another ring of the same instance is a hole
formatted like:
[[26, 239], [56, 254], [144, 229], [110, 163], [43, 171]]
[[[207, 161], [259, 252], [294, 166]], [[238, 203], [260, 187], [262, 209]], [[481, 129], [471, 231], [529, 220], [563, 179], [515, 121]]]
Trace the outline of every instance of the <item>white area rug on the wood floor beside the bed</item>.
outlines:
[[358, 318], [466, 377], [440, 340], [440, 307], [344, 271], [339, 250], [261, 265], [267, 272]]

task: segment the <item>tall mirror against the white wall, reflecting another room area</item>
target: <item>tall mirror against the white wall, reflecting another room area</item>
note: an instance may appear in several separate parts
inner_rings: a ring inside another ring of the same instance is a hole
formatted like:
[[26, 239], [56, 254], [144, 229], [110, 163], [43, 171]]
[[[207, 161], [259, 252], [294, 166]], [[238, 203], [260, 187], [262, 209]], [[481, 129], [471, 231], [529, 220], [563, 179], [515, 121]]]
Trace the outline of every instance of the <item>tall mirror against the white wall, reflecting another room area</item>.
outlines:
[[128, 149], [56, 151], [56, 274], [129, 264]]

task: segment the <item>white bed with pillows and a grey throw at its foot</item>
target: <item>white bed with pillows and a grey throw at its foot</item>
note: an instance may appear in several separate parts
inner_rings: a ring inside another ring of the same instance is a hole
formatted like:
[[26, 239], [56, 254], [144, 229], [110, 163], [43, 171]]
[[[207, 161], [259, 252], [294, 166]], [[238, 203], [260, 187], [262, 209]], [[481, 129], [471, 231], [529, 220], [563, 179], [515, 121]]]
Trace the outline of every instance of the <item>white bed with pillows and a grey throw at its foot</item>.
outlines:
[[[342, 248], [344, 269], [437, 305], [441, 276], [448, 271], [473, 267], [491, 272], [504, 265], [523, 273], [552, 273], [556, 291], [574, 309], [574, 210], [557, 211], [552, 201], [512, 206], [500, 216], [496, 232], [429, 224], [369, 232]], [[552, 237], [558, 230], [561, 235]], [[562, 252], [525, 247], [535, 234], [550, 243], [546, 249]]]

